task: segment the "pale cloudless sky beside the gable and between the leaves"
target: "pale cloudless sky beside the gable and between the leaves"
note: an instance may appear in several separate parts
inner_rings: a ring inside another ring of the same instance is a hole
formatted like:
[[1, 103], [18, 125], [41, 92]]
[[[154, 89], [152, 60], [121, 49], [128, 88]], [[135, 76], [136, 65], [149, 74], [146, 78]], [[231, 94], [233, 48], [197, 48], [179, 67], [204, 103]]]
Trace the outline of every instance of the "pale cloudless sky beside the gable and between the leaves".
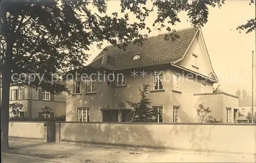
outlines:
[[[236, 28], [245, 24], [247, 19], [255, 18], [255, 6], [249, 6], [250, 1], [226, 0], [225, 4], [218, 7], [209, 7], [207, 24], [202, 27], [202, 32], [206, 47], [210, 56], [212, 67], [214, 68], [219, 83], [215, 84], [229, 94], [235, 95], [237, 89], [245, 89], [247, 94], [252, 90], [252, 51], [254, 51], [254, 96], [256, 95], [256, 55], [255, 55], [255, 30], [248, 34], [246, 31], [239, 33]], [[150, 5], [149, 5], [150, 6]], [[110, 1], [108, 13], [120, 12], [119, 1]], [[146, 25], [152, 25], [157, 13], [151, 13], [145, 20]], [[188, 16], [185, 12], [179, 14], [181, 22], [178, 22], [172, 29], [183, 29], [191, 27]], [[133, 21], [133, 19], [131, 20]], [[153, 28], [153, 27], [152, 27]], [[166, 30], [152, 30], [148, 36], [156, 36], [166, 33]], [[145, 34], [146, 31], [142, 31]], [[103, 43], [104, 46], [108, 42]], [[96, 46], [92, 45], [88, 63], [90, 63], [100, 52]]]

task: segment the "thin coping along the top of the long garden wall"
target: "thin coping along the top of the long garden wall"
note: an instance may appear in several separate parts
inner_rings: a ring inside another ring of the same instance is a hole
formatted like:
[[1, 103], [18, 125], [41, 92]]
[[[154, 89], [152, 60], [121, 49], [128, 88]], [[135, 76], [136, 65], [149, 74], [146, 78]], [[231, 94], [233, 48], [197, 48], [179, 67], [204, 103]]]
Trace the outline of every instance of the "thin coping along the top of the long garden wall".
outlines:
[[119, 124], [119, 125], [196, 125], [196, 126], [256, 126], [256, 124], [251, 123], [143, 123], [143, 122], [56, 122], [56, 123], [72, 123], [72, 124]]

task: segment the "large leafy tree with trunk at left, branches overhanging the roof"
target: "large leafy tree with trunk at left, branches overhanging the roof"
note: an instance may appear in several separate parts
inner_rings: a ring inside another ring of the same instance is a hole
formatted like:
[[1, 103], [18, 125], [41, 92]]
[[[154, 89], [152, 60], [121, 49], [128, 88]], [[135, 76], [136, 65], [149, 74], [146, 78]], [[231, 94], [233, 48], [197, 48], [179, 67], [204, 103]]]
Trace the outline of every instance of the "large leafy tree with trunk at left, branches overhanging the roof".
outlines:
[[[88, 57], [86, 51], [90, 50], [92, 43], [101, 48], [102, 41], [108, 41], [123, 50], [129, 42], [142, 44], [147, 35], [141, 35], [140, 31], [151, 32], [144, 20], [153, 11], [157, 11], [157, 16], [152, 26], [158, 30], [166, 28], [173, 31], [165, 37], [173, 39], [178, 36], [165, 22], [170, 26], [180, 22], [178, 13], [186, 11], [191, 24], [204, 26], [208, 7], [224, 4], [224, 0], [156, 0], [148, 9], [146, 2], [150, 1], [120, 1], [120, 16], [116, 12], [107, 15], [104, 0], [1, 1], [2, 151], [8, 149], [7, 114], [11, 84], [30, 85], [53, 94], [68, 91], [65, 85], [53, 82], [52, 74], [82, 69]], [[96, 13], [92, 7], [96, 8]], [[137, 19], [130, 23], [131, 14]], [[20, 77], [23, 73], [29, 75]]]

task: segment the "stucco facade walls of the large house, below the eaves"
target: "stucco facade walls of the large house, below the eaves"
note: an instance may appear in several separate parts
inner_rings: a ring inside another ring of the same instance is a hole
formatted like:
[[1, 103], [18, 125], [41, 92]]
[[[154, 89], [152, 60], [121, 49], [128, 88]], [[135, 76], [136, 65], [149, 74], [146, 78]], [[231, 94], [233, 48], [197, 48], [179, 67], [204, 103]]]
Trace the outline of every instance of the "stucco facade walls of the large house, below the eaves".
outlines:
[[[126, 86], [115, 88], [115, 105], [117, 102], [132, 101], [139, 102], [140, 95], [138, 87], [142, 87], [142, 83], [152, 85], [152, 74], [155, 71], [163, 71], [163, 89], [161, 91], [152, 91], [152, 86], [149, 88], [147, 97], [151, 99], [152, 106], [163, 105], [163, 122], [172, 123], [173, 122], [173, 107], [174, 105], [180, 106], [180, 122], [195, 122], [196, 110], [191, 104], [191, 99], [194, 97], [196, 92], [201, 92], [201, 79], [199, 77], [190, 76], [187, 79], [187, 74], [181, 70], [174, 68], [170, 65], [145, 67], [140, 69], [135, 69], [138, 76], [131, 76], [131, 72], [134, 70], [129, 69], [122, 73], [126, 77]], [[146, 76], [140, 76], [140, 72], [145, 71]], [[181, 92], [173, 91], [173, 73], [180, 74], [180, 87]], [[102, 78], [101, 78], [102, 79]], [[212, 83], [205, 82], [206, 92], [212, 92]], [[67, 87], [72, 89], [73, 81], [67, 81]], [[101, 122], [102, 112], [99, 107], [103, 108], [109, 105], [113, 107], [113, 88], [109, 87], [105, 81], [96, 82], [96, 93], [86, 94], [85, 84], [81, 84], [81, 94], [79, 95], [67, 95], [66, 103], [66, 121], [77, 121], [77, 108], [78, 107], [89, 107], [90, 108], [90, 121], [91, 122]], [[126, 107], [130, 107], [126, 103]]]

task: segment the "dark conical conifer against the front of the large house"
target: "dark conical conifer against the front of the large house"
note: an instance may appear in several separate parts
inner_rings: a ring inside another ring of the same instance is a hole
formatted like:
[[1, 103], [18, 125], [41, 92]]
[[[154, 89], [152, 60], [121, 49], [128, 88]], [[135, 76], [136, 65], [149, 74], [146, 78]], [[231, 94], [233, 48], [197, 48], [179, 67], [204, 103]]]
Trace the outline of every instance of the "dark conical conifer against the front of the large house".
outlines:
[[130, 118], [131, 122], [155, 122], [155, 116], [157, 113], [150, 107], [151, 101], [146, 97], [149, 86], [150, 85], [143, 83], [142, 89], [139, 87], [141, 96], [141, 100], [139, 102], [126, 101], [131, 107], [133, 107], [132, 116]]

